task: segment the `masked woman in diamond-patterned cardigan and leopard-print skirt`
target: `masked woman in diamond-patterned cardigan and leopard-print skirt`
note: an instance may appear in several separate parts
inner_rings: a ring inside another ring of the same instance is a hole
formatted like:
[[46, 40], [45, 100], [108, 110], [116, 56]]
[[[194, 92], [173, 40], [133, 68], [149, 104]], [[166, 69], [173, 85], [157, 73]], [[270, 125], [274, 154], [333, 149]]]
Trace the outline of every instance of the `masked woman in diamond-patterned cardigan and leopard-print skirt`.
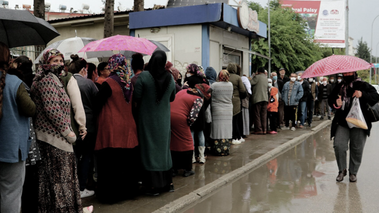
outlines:
[[71, 102], [59, 78], [64, 69], [63, 57], [57, 49], [45, 50], [31, 89], [37, 107], [34, 128], [41, 154], [38, 213], [83, 212], [72, 145], [76, 136], [71, 128]]

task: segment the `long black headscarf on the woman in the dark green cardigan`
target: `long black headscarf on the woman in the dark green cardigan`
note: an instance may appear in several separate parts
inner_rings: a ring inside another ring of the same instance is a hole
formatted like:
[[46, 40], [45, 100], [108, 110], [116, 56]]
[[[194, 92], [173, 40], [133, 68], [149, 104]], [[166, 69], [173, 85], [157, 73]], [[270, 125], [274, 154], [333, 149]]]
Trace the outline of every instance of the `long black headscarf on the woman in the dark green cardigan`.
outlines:
[[150, 58], [149, 64], [145, 68], [152, 75], [155, 83], [156, 104], [159, 104], [162, 100], [173, 78], [165, 69], [166, 60], [166, 53], [162, 50], [157, 50], [152, 54], [152, 58]]

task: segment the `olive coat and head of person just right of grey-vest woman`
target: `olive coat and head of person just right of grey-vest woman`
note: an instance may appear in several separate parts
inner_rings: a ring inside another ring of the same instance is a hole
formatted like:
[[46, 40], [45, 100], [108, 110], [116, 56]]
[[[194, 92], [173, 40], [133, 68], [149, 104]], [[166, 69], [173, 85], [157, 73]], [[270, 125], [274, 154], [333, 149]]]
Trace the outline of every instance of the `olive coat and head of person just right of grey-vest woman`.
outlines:
[[233, 97], [231, 103], [233, 104], [233, 116], [241, 112], [241, 100], [239, 99], [239, 93], [245, 93], [246, 88], [243, 85], [241, 76], [237, 75], [237, 66], [235, 64], [228, 64], [227, 71], [230, 74], [229, 82], [233, 84]]

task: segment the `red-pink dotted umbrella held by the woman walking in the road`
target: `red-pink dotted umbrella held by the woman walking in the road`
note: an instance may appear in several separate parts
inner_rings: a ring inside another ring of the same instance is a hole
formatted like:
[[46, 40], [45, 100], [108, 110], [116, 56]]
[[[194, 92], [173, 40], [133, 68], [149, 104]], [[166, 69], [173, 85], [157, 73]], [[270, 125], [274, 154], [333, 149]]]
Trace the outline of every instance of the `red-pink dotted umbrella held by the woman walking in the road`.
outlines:
[[332, 55], [312, 64], [304, 71], [302, 78], [367, 70], [371, 67], [374, 67], [374, 65], [355, 56]]

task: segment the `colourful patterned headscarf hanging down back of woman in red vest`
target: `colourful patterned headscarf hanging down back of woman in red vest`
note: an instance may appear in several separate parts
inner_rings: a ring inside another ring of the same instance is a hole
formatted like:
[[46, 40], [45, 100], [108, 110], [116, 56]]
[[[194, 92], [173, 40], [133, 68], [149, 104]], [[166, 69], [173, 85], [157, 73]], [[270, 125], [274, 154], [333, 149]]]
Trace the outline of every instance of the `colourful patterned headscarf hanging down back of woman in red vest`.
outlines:
[[126, 58], [122, 54], [114, 54], [108, 61], [111, 73], [109, 78], [112, 78], [121, 87], [125, 101], [129, 104], [133, 93], [133, 85], [130, 83], [131, 71], [129, 71]]

